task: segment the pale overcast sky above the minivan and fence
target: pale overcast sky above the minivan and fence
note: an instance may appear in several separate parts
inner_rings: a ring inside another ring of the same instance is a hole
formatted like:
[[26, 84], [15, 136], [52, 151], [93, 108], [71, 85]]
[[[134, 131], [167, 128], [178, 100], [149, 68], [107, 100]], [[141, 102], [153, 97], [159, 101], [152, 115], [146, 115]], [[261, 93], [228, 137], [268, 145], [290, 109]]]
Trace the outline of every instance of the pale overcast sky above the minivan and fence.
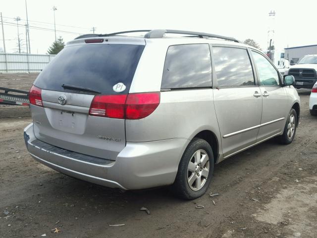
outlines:
[[[317, 44], [316, 0], [27, 0], [31, 53], [46, 54], [56, 30], [73, 33], [111, 33], [133, 29], [180, 29], [254, 39], [267, 48], [269, 25], [274, 30], [276, 49]], [[268, 12], [275, 10], [275, 23]], [[22, 20], [20, 38], [25, 42], [25, 0], [1, 0], [7, 52], [17, 48], [14, 17]], [[10, 22], [10, 23], [7, 23]], [[50, 24], [46, 24], [46, 23]], [[67, 26], [65, 26], [67, 25]], [[37, 28], [34, 28], [37, 27]], [[38, 28], [47, 28], [38, 29]], [[65, 42], [76, 34], [57, 32]], [[2, 32], [0, 47], [3, 48]], [[25, 49], [25, 47], [24, 47]]]

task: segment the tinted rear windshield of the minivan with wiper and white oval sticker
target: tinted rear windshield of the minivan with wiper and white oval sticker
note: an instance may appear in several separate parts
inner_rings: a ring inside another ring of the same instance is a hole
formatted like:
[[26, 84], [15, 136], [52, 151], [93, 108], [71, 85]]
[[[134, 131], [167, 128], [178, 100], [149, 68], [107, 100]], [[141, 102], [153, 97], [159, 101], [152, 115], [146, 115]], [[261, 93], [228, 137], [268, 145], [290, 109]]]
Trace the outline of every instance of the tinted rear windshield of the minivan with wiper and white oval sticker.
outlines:
[[143, 49], [143, 45], [125, 44], [65, 47], [39, 74], [34, 85], [60, 92], [118, 94], [113, 86], [122, 83], [125, 90], [119, 93], [126, 94]]

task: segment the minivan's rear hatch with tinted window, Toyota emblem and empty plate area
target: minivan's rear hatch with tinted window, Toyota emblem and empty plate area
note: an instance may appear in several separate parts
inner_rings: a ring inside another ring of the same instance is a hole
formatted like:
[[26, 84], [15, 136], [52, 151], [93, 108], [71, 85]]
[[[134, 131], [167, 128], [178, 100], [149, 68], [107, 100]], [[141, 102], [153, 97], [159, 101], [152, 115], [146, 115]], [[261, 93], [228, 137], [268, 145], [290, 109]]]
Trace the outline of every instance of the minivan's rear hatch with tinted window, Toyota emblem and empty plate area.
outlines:
[[[63, 149], [115, 160], [126, 144], [118, 105], [129, 92], [145, 42], [85, 41], [65, 47], [35, 80], [42, 100], [31, 105], [35, 136]], [[106, 109], [98, 99], [106, 100]]]

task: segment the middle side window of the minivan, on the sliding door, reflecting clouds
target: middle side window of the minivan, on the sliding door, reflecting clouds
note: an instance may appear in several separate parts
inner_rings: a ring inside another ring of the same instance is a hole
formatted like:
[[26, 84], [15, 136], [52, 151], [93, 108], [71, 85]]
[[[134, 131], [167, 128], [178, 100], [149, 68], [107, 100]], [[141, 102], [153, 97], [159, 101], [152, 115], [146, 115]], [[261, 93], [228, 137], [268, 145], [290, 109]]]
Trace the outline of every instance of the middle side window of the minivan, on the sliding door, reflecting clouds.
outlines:
[[212, 47], [219, 87], [253, 86], [255, 80], [247, 50]]

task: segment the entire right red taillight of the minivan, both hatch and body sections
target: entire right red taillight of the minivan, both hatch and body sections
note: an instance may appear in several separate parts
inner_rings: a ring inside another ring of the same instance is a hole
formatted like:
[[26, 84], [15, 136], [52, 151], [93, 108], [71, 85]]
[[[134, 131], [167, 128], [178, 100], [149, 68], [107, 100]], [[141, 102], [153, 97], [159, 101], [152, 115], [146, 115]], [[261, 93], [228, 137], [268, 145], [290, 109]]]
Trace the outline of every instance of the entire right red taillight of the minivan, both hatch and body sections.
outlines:
[[142, 119], [156, 110], [159, 101], [159, 92], [96, 95], [91, 103], [89, 115], [117, 119]]

